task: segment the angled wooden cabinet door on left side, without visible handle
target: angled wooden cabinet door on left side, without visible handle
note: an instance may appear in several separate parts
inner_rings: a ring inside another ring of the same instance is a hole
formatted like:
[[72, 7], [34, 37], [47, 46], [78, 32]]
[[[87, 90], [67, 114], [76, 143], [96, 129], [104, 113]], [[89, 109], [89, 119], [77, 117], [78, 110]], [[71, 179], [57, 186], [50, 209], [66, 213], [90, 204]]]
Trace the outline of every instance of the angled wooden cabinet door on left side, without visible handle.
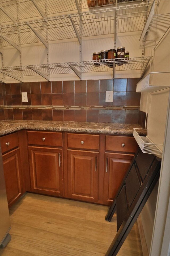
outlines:
[[19, 149], [2, 156], [8, 206], [11, 206], [23, 194]]

